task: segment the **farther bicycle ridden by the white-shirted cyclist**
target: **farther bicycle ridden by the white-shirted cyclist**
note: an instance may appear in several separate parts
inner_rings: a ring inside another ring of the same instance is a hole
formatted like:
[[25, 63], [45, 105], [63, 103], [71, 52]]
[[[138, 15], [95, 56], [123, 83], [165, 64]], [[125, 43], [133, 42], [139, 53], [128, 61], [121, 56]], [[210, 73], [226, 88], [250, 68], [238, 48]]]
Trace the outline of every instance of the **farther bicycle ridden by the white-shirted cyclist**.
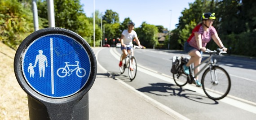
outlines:
[[[129, 47], [129, 46], [128, 46]], [[124, 60], [122, 60], [123, 64], [121, 67], [119, 67], [119, 70], [121, 72], [121, 74], [124, 73], [124, 70], [126, 68], [128, 68], [128, 75], [130, 77], [130, 80], [132, 81], [137, 73], [137, 62], [134, 56], [132, 56], [132, 52], [134, 49], [132, 49], [128, 55], [126, 56], [126, 58]], [[124, 54], [121, 55], [120, 57], [120, 61], [122, 59], [122, 57], [124, 56]]]

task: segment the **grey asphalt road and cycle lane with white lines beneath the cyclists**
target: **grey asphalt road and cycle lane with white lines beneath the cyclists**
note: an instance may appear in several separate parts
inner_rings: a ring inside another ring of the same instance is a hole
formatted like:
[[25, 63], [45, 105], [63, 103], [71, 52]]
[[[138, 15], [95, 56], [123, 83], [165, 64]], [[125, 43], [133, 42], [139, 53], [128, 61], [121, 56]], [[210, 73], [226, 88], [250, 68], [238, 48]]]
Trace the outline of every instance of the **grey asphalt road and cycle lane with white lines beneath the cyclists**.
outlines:
[[187, 84], [180, 88], [172, 79], [170, 68], [172, 56], [187, 56], [183, 51], [136, 49], [138, 64], [137, 76], [129, 80], [127, 70], [119, 72], [121, 50], [115, 47], [103, 47], [97, 56], [113, 80], [121, 80], [138, 92], [164, 104], [191, 120], [254, 120], [256, 118], [256, 60], [244, 57], [224, 56], [220, 66], [231, 77], [231, 90], [227, 97], [214, 101], [208, 99], [203, 89]]

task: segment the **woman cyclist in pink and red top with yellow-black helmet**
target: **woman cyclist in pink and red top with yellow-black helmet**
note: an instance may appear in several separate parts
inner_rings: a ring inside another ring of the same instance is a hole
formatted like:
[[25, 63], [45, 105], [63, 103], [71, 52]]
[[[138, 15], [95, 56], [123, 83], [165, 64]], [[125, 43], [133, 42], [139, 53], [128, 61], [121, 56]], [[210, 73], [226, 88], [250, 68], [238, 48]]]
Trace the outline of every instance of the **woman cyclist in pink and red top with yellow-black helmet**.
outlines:
[[[213, 41], [224, 51], [228, 49], [224, 47], [219, 38], [216, 29], [212, 26], [213, 21], [215, 20], [215, 13], [203, 13], [202, 22], [200, 22], [190, 35], [187, 42], [185, 42], [184, 50], [187, 52], [191, 58], [187, 64], [183, 65], [183, 70], [185, 74], [190, 74], [189, 66], [194, 63], [194, 66], [201, 64], [202, 54], [206, 51], [206, 44], [213, 39]], [[199, 67], [194, 69], [194, 73], [198, 73], [200, 70]], [[196, 86], [202, 86], [198, 81], [198, 77], [195, 80]]]

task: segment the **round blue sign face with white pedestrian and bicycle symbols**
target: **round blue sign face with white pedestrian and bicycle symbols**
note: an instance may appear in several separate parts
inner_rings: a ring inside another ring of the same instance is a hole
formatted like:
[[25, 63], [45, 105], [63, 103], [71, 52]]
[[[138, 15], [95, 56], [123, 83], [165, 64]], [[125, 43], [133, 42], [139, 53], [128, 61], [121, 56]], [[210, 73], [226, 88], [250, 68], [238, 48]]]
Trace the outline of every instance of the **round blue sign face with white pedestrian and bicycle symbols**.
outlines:
[[28, 85], [51, 98], [65, 98], [81, 90], [91, 65], [83, 45], [64, 34], [35, 39], [22, 56], [22, 73]]

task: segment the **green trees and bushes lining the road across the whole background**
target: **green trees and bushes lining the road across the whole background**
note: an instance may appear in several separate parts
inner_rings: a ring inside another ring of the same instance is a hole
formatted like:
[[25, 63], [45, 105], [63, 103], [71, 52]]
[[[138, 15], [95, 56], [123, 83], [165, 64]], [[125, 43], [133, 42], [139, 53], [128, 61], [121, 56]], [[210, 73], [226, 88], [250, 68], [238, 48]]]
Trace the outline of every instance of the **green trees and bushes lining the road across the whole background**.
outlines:
[[[1, 0], [0, 5], [0, 41], [16, 49], [27, 35], [34, 31], [32, 0]], [[47, 0], [37, 0], [40, 29], [48, 27]], [[183, 49], [183, 44], [189, 37], [192, 29], [201, 21], [202, 13], [216, 13], [213, 24], [218, 34], [235, 55], [256, 56], [256, 1], [255, 0], [195, 0], [189, 4], [189, 9], [184, 9], [179, 18], [176, 29], [171, 31], [171, 36], [166, 36], [164, 43], [158, 42], [158, 33], [163, 26], [154, 26], [145, 22], [137, 31], [141, 44], [146, 48]], [[82, 9], [80, 0], [54, 0], [56, 27], [74, 31], [82, 36], [93, 46], [93, 17], [88, 17]], [[102, 23], [105, 34], [102, 35]], [[122, 30], [126, 29], [128, 21], [119, 20], [119, 14], [111, 9], [95, 13], [95, 38], [96, 46], [100, 46], [102, 39], [110, 45], [118, 42]], [[116, 39], [113, 41], [113, 39]], [[210, 49], [216, 49], [215, 44], [208, 43]]]

